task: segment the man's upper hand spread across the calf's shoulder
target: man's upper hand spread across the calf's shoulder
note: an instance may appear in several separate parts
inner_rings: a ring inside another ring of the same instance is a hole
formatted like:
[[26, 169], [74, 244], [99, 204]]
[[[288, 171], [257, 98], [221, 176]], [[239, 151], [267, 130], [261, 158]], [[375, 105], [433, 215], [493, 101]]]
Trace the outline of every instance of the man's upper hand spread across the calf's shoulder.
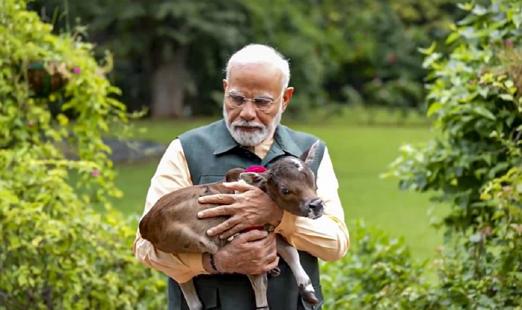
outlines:
[[198, 212], [198, 217], [215, 217], [231, 215], [230, 219], [210, 228], [209, 236], [221, 234], [219, 237], [228, 238], [243, 229], [270, 224], [274, 227], [281, 223], [283, 210], [262, 190], [255, 186], [241, 182], [223, 183], [231, 190], [241, 191], [240, 194], [215, 194], [200, 197], [201, 203], [222, 204], [215, 208]]

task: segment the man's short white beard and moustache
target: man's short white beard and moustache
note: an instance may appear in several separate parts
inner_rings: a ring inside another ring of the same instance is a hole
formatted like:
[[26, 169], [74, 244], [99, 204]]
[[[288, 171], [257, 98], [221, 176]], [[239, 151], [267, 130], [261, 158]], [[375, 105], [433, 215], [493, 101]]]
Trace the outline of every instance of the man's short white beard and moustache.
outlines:
[[[282, 114], [283, 108], [282, 105], [280, 105], [279, 111], [277, 111], [276, 116], [268, 126], [265, 126], [260, 122], [246, 121], [243, 119], [238, 119], [230, 123], [227, 109], [225, 108], [225, 102], [223, 102], [223, 118], [227, 124], [227, 129], [229, 130], [234, 140], [242, 146], [256, 146], [265, 141], [271, 134], [274, 133], [277, 125], [281, 121]], [[238, 126], [256, 128], [256, 130], [252, 132], [242, 131], [241, 129], [237, 128]]]

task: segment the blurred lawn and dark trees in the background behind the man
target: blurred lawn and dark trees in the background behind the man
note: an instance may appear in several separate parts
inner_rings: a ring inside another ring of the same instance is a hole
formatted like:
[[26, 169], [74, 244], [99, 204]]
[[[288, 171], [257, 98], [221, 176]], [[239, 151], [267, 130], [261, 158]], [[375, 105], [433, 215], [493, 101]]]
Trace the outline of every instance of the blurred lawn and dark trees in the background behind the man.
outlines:
[[[228, 57], [256, 42], [290, 60], [295, 87], [283, 123], [325, 140], [339, 178], [346, 220], [405, 236], [430, 258], [442, 234], [430, 227], [428, 197], [399, 192], [379, 174], [403, 143], [428, 141], [426, 71], [418, 49], [444, 40], [465, 16], [456, 0], [37, 0], [29, 8], [114, 56], [111, 82], [129, 111], [147, 109], [138, 137], [168, 145], [177, 134], [220, 117]], [[59, 105], [59, 102], [58, 102]], [[56, 110], [58, 111], [58, 110]], [[158, 158], [117, 164], [114, 200], [141, 214]], [[100, 208], [101, 210], [101, 208]], [[354, 245], [357, 246], [357, 245]]]

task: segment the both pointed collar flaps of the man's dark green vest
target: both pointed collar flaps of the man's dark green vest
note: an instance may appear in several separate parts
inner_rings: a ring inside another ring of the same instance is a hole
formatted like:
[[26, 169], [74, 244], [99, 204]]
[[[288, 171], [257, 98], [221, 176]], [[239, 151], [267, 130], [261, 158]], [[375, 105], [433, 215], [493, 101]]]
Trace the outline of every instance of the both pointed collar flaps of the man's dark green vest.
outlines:
[[[214, 150], [214, 155], [219, 155], [226, 153], [232, 150], [234, 147], [239, 147], [239, 143], [234, 140], [232, 135], [227, 129], [227, 125], [225, 124], [224, 119], [219, 121], [218, 130], [216, 131], [218, 146]], [[287, 131], [287, 127], [279, 124], [276, 127], [276, 132], [274, 136], [274, 142], [270, 147], [270, 152], [277, 152], [277, 148], [279, 148], [284, 153], [293, 155], [295, 157], [299, 157], [301, 155], [301, 151], [297, 144], [292, 140], [290, 134]]]

